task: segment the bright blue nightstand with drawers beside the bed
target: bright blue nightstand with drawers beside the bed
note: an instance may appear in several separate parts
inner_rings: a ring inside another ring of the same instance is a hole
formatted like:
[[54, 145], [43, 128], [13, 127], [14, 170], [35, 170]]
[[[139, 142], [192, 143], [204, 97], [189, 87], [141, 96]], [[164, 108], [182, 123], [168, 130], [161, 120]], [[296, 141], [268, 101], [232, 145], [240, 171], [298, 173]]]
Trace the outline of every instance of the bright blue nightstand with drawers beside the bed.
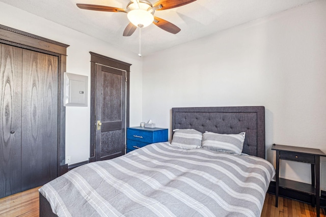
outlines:
[[166, 128], [127, 128], [127, 153], [148, 144], [166, 141], [168, 141]]

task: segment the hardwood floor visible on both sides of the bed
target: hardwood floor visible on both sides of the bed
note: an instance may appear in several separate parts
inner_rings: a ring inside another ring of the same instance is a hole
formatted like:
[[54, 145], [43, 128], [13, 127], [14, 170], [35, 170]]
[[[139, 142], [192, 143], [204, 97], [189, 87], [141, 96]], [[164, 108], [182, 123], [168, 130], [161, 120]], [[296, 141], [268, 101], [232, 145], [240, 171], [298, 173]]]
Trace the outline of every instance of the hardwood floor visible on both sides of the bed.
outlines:
[[[31, 189], [0, 199], [0, 216], [39, 216], [39, 188]], [[316, 216], [316, 207], [295, 200], [279, 198], [279, 207], [275, 207], [275, 195], [267, 194], [261, 213], [262, 217]], [[320, 217], [326, 217], [320, 209]]]

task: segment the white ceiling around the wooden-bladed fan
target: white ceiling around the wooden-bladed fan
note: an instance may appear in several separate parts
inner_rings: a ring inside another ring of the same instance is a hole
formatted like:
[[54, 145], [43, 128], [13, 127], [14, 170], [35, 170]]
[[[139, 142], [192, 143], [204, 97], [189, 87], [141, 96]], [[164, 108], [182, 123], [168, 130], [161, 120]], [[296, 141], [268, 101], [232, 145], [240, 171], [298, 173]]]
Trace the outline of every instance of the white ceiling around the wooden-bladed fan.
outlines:
[[[130, 37], [122, 36], [129, 23], [125, 13], [76, 7], [76, 3], [80, 3], [125, 8], [129, 0], [0, 1], [138, 54], [138, 30]], [[154, 4], [157, 0], [149, 1]], [[155, 11], [156, 17], [172, 22], [181, 31], [174, 35], [154, 24], [143, 28], [142, 54], [164, 50], [313, 1], [316, 0], [197, 0], [179, 8]]]

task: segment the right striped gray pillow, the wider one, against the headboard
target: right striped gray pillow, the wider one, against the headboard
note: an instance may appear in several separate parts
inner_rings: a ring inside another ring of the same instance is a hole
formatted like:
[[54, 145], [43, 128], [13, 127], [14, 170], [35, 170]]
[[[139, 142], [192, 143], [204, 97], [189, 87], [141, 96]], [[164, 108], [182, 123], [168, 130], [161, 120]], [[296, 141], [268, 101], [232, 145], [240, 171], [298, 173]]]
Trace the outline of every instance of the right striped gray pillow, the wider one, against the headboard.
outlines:
[[241, 154], [245, 132], [239, 134], [218, 134], [205, 132], [202, 147], [214, 151]]

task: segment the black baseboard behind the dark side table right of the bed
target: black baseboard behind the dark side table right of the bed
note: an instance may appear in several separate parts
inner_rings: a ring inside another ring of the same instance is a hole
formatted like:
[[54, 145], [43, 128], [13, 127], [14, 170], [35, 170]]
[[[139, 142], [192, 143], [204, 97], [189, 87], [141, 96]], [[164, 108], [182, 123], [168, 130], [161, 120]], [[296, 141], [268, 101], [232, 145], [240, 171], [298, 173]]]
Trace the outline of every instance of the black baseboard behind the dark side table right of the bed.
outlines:
[[[275, 181], [270, 182], [267, 193], [275, 195]], [[284, 189], [284, 188], [279, 188], [279, 196], [289, 198], [291, 200], [309, 203], [309, 204], [311, 204], [311, 200], [312, 200], [311, 198], [312, 196], [307, 193], [298, 192], [290, 189]], [[321, 191], [320, 207], [323, 208], [326, 207], [326, 191]]]

